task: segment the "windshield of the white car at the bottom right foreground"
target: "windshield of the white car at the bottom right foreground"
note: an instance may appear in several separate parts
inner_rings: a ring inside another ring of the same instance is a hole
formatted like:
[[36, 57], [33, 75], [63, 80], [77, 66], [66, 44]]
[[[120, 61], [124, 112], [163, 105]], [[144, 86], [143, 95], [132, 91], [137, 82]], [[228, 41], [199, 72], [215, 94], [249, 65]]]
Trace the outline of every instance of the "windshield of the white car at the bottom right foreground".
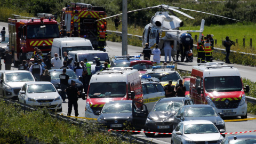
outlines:
[[219, 133], [214, 124], [188, 124], [184, 126], [184, 134]]

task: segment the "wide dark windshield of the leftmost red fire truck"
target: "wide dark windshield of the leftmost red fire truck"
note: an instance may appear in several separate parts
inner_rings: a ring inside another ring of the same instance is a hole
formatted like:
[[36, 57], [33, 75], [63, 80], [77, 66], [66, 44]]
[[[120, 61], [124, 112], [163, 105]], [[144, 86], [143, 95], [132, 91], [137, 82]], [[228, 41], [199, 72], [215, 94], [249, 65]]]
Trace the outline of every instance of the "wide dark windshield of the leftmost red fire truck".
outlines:
[[27, 38], [57, 38], [59, 37], [59, 28], [57, 24], [51, 25], [28, 25]]

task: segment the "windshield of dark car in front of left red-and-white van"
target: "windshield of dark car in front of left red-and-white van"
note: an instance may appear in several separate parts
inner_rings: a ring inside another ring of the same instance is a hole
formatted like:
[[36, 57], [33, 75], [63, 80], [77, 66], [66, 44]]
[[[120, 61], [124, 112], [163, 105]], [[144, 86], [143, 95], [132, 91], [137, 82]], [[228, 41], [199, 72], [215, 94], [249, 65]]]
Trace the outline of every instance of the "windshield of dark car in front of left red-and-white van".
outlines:
[[132, 105], [131, 103], [106, 104], [102, 113], [132, 113]]

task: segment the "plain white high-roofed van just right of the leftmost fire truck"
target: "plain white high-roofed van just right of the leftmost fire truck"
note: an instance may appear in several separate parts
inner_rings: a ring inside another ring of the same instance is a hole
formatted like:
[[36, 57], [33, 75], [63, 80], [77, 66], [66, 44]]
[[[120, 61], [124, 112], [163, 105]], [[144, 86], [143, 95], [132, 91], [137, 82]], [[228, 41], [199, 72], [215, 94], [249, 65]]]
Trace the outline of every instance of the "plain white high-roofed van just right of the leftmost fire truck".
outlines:
[[69, 53], [70, 51], [77, 50], [93, 50], [92, 43], [90, 40], [82, 37], [54, 38], [52, 42], [51, 57], [53, 58], [54, 54], [58, 53], [63, 62], [63, 52]]

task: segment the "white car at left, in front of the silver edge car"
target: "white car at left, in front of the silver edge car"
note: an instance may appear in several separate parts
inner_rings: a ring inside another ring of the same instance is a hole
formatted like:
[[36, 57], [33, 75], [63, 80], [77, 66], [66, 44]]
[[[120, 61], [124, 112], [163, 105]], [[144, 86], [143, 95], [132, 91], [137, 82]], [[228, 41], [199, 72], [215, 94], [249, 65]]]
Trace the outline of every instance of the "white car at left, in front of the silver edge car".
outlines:
[[50, 82], [25, 83], [18, 95], [18, 101], [30, 106], [62, 111], [61, 97]]

